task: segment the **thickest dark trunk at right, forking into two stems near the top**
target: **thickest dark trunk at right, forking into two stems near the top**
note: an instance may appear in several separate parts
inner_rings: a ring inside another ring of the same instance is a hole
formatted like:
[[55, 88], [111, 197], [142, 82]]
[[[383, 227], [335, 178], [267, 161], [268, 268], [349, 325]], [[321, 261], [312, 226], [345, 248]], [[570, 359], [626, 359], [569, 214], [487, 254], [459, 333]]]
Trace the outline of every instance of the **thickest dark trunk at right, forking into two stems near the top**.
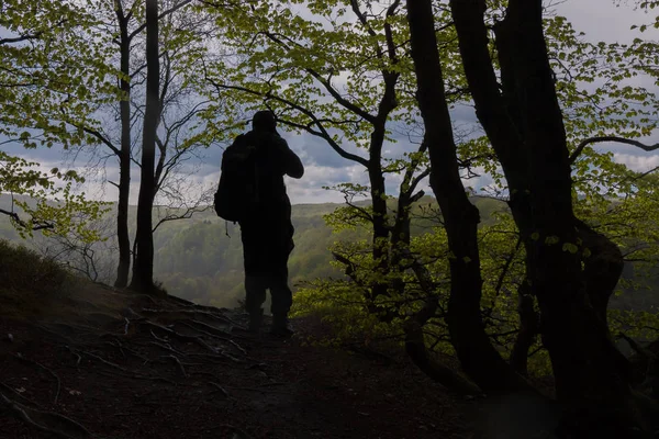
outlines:
[[511, 0], [505, 20], [495, 25], [503, 95], [489, 56], [485, 1], [451, 0], [450, 4], [477, 114], [509, 182], [556, 394], [572, 415], [566, 418], [567, 429], [624, 437], [636, 420], [629, 379], [591, 304], [582, 255], [570, 251], [579, 243], [579, 233], [541, 1]]

